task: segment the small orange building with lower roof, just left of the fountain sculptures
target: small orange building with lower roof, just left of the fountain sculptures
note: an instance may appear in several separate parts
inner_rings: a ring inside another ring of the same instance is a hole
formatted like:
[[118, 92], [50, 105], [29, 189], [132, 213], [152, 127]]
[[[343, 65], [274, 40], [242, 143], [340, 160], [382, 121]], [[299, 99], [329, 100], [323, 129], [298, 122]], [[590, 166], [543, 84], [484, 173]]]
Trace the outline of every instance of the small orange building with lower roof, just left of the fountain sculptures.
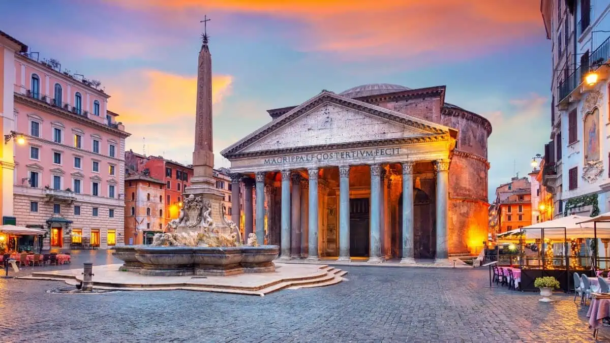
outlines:
[[125, 244], [152, 244], [165, 232], [165, 182], [147, 175], [125, 178]]

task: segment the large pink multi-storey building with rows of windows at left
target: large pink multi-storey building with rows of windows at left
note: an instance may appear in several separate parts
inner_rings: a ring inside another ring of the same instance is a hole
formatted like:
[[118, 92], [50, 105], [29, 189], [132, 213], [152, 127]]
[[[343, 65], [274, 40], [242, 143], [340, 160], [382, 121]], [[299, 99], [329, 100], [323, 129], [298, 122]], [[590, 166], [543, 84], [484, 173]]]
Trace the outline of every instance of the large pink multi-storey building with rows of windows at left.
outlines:
[[57, 61], [14, 57], [16, 224], [44, 228], [43, 248], [124, 244], [124, 146], [129, 136], [98, 82]]

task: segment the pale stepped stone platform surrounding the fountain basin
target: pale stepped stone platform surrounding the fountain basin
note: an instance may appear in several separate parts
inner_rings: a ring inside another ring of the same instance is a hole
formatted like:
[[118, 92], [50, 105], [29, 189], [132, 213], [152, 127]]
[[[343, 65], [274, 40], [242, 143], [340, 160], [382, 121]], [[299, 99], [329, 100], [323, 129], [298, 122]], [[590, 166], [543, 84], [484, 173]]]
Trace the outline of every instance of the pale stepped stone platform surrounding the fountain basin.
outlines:
[[[328, 265], [282, 264], [276, 263], [276, 271], [271, 273], [244, 273], [231, 276], [146, 276], [120, 270], [121, 264], [107, 264], [93, 267], [93, 284], [96, 289], [117, 289], [138, 291], [189, 291], [226, 292], [236, 294], [264, 295], [285, 287], [300, 284], [328, 286], [343, 279], [337, 270]], [[34, 272], [22, 276], [27, 280], [63, 280], [68, 284], [82, 281], [82, 269]], [[330, 283], [330, 281], [335, 281]]]

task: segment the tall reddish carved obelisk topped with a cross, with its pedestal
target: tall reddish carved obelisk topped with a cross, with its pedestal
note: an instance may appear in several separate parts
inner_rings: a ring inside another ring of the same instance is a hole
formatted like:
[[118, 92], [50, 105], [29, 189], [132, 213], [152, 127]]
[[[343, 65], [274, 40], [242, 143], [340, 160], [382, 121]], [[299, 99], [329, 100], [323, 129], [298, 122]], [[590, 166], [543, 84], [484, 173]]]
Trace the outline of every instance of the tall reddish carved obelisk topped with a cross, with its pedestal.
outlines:
[[[209, 21], [202, 21], [206, 23]], [[190, 195], [209, 200], [210, 216], [219, 229], [228, 228], [223, 215], [223, 193], [215, 187], [213, 178], [214, 153], [212, 150], [212, 55], [207, 45], [207, 30], [201, 36], [203, 44], [199, 50], [197, 71], [197, 106], [195, 117], [195, 148], [193, 150], [193, 178], [191, 186], [184, 189], [184, 198]], [[186, 209], [186, 208], [185, 208]], [[188, 209], [186, 209], [188, 210]], [[178, 226], [178, 231], [201, 231], [201, 227]]]

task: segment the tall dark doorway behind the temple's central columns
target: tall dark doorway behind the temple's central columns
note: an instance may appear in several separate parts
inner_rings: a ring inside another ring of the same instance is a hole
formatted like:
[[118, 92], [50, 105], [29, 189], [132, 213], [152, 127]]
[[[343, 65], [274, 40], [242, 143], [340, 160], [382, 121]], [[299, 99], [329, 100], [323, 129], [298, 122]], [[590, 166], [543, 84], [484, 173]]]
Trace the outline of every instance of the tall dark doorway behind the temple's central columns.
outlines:
[[368, 256], [368, 198], [350, 199], [350, 256]]

